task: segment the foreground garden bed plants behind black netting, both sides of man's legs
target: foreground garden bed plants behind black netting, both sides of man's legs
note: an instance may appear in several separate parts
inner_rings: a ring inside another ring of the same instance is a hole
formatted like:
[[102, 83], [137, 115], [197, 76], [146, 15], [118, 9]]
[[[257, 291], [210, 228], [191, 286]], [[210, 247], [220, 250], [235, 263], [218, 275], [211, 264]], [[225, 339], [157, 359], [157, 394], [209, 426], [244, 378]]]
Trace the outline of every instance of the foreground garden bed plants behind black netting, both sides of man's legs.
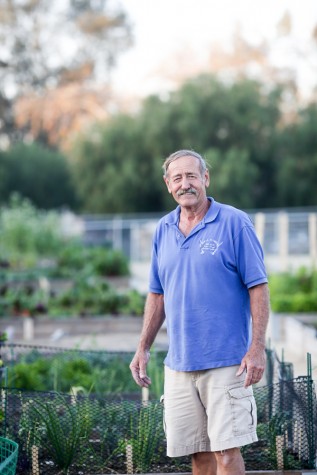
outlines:
[[[257, 405], [265, 410], [259, 411], [259, 442], [243, 447], [247, 469], [276, 470], [281, 464], [285, 469], [311, 468], [308, 458], [313, 445], [305, 429], [308, 413], [296, 417], [285, 410], [285, 404], [281, 407], [279, 385], [271, 391], [276, 397], [270, 402], [267, 387], [255, 390]], [[157, 401], [15, 390], [3, 391], [4, 397], [7, 436], [20, 445], [18, 474], [188, 470], [187, 457], [165, 455], [163, 406]]]

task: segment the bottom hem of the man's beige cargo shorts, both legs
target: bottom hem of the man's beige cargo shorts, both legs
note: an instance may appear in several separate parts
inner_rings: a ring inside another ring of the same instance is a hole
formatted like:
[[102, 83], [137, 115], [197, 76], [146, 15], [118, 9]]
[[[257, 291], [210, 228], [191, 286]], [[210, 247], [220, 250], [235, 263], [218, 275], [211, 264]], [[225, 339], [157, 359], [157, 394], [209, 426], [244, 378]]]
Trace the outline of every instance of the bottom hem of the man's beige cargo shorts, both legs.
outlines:
[[221, 450], [233, 449], [235, 447], [243, 447], [244, 445], [257, 442], [256, 432], [235, 436], [227, 440], [212, 442], [211, 444], [198, 442], [191, 445], [183, 445], [178, 447], [167, 448], [168, 457], [184, 457], [186, 455], [196, 454], [198, 452], [219, 452]]

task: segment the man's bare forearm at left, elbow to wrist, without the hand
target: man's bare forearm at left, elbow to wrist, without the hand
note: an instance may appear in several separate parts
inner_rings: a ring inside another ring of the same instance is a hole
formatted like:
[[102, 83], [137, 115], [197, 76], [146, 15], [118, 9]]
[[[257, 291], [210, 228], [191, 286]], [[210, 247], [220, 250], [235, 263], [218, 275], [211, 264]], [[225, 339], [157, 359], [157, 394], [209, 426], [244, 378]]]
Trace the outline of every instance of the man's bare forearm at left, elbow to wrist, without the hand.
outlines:
[[149, 350], [165, 320], [164, 296], [150, 292], [147, 296], [143, 328], [140, 336], [139, 350]]

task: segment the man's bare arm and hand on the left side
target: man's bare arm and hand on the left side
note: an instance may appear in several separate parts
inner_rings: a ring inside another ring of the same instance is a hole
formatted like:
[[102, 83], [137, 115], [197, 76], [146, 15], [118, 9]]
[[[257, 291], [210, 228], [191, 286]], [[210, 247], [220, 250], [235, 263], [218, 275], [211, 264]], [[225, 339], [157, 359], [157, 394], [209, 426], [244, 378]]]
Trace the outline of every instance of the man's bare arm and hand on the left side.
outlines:
[[146, 374], [146, 366], [150, 358], [150, 348], [164, 320], [164, 296], [150, 292], [145, 303], [140, 342], [130, 363], [133, 379], [139, 386], [147, 388], [151, 384]]

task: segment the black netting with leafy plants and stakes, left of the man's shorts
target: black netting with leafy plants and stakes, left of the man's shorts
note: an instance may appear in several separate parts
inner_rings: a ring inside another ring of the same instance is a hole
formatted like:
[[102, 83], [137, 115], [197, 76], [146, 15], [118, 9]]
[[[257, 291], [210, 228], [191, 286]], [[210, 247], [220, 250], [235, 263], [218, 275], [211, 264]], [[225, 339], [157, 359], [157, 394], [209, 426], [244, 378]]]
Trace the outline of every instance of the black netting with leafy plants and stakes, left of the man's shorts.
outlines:
[[4, 389], [2, 405], [6, 437], [19, 444], [18, 474], [168, 472], [186, 462], [188, 468], [188, 461], [165, 455], [160, 402]]

